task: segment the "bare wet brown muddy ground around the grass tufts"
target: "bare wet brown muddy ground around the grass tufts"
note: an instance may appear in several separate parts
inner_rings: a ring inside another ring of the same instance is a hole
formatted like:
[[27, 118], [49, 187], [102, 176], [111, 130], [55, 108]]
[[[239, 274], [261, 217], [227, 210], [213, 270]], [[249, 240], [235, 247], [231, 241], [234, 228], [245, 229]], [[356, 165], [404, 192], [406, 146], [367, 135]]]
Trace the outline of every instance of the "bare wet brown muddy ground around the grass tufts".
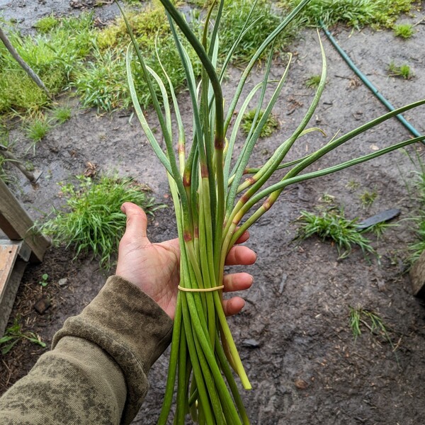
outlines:
[[[17, 18], [24, 30], [30, 30], [35, 18], [51, 11], [76, 13], [68, 2], [0, 0], [0, 13]], [[96, 13], [108, 16], [114, 9], [105, 5], [96, 8]], [[422, 6], [414, 17], [400, 21], [417, 23], [424, 15]], [[390, 30], [358, 32], [338, 27], [334, 34], [380, 92], [395, 106], [402, 106], [425, 97], [425, 27], [417, 25], [415, 29], [409, 40], [395, 38]], [[321, 127], [329, 136], [338, 130], [344, 134], [385, 113], [385, 107], [359, 83], [325, 38], [324, 48], [328, 82], [311, 125]], [[315, 30], [303, 30], [289, 50], [294, 54], [293, 64], [275, 111], [280, 130], [259, 142], [259, 163], [300, 122], [312, 98], [305, 80], [320, 71]], [[409, 64], [414, 78], [388, 77], [391, 61]], [[282, 61], [277, 58], [273, 75], [278, 77], [282, 71]], [[239, 71], [232, 69], [225, 88], [227, 97], [234, 90], [238, 75]], [[259, 71], [249, 86], [260, 78]], [[188, 103], [186, 96], [181, 94], [182, 104]], [[166, 176], [136, 120], [129, 120], [130, 113], [118, 111], [99, 116], [96, 111], [79, 109], [75, 98], [64, 97], [61, 101], [72, 103], [72, 119], [52, 130], [34, 155], [32, 151], [25, 154], [28, 140], [18, 130], [12, 135], [24, 159], [43, 172], [36, 186], [16, 174], [14, 190], [34, 217], [50, 210], [51, 205], [60, 205], [57, 183], [83, 173], [88, 161], [101, 171], [118, 170], [149, 184], [157, 200], [170, 205]], [[190, 123], [191, 111], [186, 109], [183, 113]], [[424, 108], [419, 108], [405, 118], [416, 130], [424, 132], [424, 113]], [[409, 137], [406, 128], [392, 120], [341, 147], [319, 166], [354, 154], [368, 154]], [[291, 159], [312, 152], [325, 140], [318, 134], [300, 140]], [[424, 152], [421, 145], [417, 149], [419, 154]], [[258, 254], [258, 261], [249, 268], [254, 285], [244, 294], [243, 312], [229, 322], [253, 386], [243, 395], [253, 424], [413, 425], [423, 421], [424, 302], [412, 296], [402, 262], [407, 245], [414, 240], [412, 221], [407, 219], [415, 215], [418, 206], [413, 191], [415, 170], [407, 155], [395, 152], [370, 164], [293, 186], [251, 228], [249, 246]], [[366, 190], [378, 193], [368, 209], [359, 199]], [[359, 249], [339, 261], [336, 247], [316, 238], [293, 241], [300, 211], [314, 211], [323, 205], [320, 198], [324, 193], [334, 196], [334, 202], [343, 205], [350, 218], [363, 219], [389, 208], [401, 210], [397, 226], [387, 229], [379, 240], [373, 239], [380, 263], [374, 257], [365, 259]], [[149, 236], [154, 241], [176, 236], [172, 208], [157, 213]], [[50, 249], [42, 264], [29, 267], [13, 310], [12, 317], [20, 313], [25, 329], [40, 334], [47, 344], [64, 319], [90, 302], [107, 275], [94, 261], [71, 259], [72, 253], [67, 250]], [[51, 278], [45, 289], [38, 285], [42, 273]], [[67, 285], [60, 287], [60, 278], [67, 278]], [[33, 310], [33, 304], [43, 294], [51, 297], [52, 306], [41, 316]], [[350, 306], [379, 314], [391, 344], [380, 335], [370, 334], [365, 327], [355, 341], [348, 325]], [[1, 358], [1, 391], [24, 375], [42, 352], [22, 341]], [[135, 424], [156, 423], [167, 363], [165, 355], [154, 365], [151, 390]]]

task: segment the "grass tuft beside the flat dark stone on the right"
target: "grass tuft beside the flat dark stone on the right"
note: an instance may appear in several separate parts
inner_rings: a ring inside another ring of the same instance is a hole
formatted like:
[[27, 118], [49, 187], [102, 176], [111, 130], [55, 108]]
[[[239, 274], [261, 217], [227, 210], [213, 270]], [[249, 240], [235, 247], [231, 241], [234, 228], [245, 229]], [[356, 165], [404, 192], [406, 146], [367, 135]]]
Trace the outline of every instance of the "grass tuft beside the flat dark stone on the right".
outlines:
[[347, 220], [342, 208], [324, 211], [322, 215], [302, 211], [298, 221], [301, 224], [298, 227], [297, 239], [307, 239], [313, 234], [323, 240], [331, 239], [338, 249], [338, 259], [345, 259], [351, 253], [353, 245], [360, 246], [364, 254], [375, 253], [370, 240], [358, 232], [358, 220]]

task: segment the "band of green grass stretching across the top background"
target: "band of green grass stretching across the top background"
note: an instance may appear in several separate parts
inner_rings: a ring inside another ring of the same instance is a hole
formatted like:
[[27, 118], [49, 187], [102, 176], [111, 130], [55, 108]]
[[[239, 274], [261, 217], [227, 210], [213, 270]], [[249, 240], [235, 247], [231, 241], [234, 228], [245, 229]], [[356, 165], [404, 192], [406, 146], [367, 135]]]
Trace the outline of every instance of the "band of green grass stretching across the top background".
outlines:
[[[286, 10], [295, 6], [298, 1], [281, 1], [280, 4]], [[136, 2], [130, 1], [130, 3]], [[210, 1], [195, 1], [195, 3], [205, 8]], [[250, 0], [226, 1], [220, 33], [221, 60], [227, 55], [239, 35], [251, 4]], [[386, 0], [375, 2], [312, 0], [298, 25], [317, 21], [317, 16], [322, 16], [320, 13], [325, 9], [329, 14], [325, 16], [328, 23], [344, 21], [353, 26], [361, 26], [379, 22], [387, 25], [387, 19], [395, 18], [402, 11], [407, 11], [410, 4], [409, 0], [389, 2]], [[198, 19], [205, 18], [205, 13], [200, 13], [199, 9], [197, 12], [199, 18], [196, 18], [194, 13], [191, 20], [191, 25], [196, 30], [200, 28]], [[283, 14], [285, 11], [279, 10], [270, 1], [259, 0], [251, 16], [251, 22], [256, 19], [259, 21], [244, 35], [234, 53], [234, 64], [241, 64], [251, 58], [265, 36], [280, 23]], [[160, 77], [164, 77], [156, 61], [155, 38], [157, 38], [166, 72], [174, 87], [177, 90], [183, 89], [185, 86], [183, 67], [174, 47], [162, 7], [158, 6], [157, 2], [153, 2], [142, 11], [128, 12], [128, 19], [137, 42], [144, 52], [147, 64]], [[22, 37], [13, 27], [6, 30], [23, 59], [38, 73], [52, 94], [59, 94], [72, 87], [80, 96], [84, 107], [94, 107], [98, 111], [113, 111], [130, 106], [124, 60], [125, 49], [130, 38], [122, 18], [118, 17], [111, 25], [98, 30], [93, 26], [93, 16], [88, 13], [83, 13], [79, 18], [56, 18], [50, 15], [40, 19], [35, 27], [38, 29], [38, 34], [33, 37]], [[288, 40], [294, 33], [295, 28], [292, 26], [286, 33], [280, 35], [274, 45], [276, 52], [288, 44]], [[195, 57], [193, 50], [189, 48], [188, 52], [193, 59]], [[196, 77], [199, 77], [198, 62], [194, 71]], [[151, 98], [145, 80], [139, 72], [135, 74], [135, 86], [137, 93], [140, 94], [140, 103], [146, 108], [151, 103]], [[46, 94], [30, 80], [6, 48], [0, 45], [0, 115], [32, 115], [40, 113], [50, 105], [51, 101]]]

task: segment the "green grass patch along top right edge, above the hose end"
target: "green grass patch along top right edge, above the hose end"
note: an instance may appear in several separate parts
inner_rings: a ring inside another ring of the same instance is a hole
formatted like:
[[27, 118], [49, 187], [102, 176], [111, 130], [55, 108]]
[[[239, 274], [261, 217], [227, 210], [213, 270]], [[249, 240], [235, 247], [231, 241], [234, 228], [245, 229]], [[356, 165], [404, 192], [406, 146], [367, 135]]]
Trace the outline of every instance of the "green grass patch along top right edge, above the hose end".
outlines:
[[[278, 4], [293, 8], [300, 0], [280, 0]], [[413, 0], [312, 0], [300, 17], [300, 23], [318, 26], [322, 20], [327, 26], [345, 23], [354, 28], [384, 26], [391, 28], [401, 13], [409, 12]]]

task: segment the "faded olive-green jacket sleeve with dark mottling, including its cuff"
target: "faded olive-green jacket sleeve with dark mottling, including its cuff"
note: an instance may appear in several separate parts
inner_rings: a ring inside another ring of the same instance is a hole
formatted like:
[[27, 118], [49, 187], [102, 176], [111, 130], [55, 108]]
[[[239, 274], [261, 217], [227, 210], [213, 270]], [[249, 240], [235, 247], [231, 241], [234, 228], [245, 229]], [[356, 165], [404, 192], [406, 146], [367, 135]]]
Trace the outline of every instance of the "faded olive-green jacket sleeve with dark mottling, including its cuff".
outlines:
[[148, 295], [112, 276], [0, 398], [0, 424], [130, 424], [172, 325]]

